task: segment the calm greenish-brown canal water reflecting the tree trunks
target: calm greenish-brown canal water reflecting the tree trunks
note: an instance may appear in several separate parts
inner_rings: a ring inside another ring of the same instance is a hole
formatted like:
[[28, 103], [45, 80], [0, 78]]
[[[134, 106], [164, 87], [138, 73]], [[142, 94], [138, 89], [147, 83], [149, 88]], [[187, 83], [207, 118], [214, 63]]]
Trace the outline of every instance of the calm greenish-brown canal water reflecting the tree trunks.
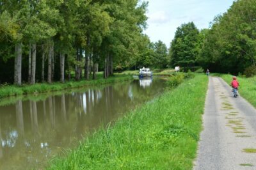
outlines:
[[164, 88], [163, 79], [143, 79], [12, 98], [12, 104], [0, 106], [0, 169], [44, 169], [54, 155], [76, 147], [86, 134], [152, 100]]

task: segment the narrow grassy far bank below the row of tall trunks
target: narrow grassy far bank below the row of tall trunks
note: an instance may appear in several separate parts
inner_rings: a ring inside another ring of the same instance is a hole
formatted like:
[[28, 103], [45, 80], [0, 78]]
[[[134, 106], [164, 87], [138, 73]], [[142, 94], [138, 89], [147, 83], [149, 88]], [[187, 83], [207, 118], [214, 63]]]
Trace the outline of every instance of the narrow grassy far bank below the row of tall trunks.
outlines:
[[23, 85], [23, 86], [0, 86], [0, 98], [12, 97], [17, 95], [27, 95], [36, 93], [46, 93], [50, 91], [60, 91], [63, 89], [70, 88], [82, 88], [84, 86], [95, 86], [99, 84], [108, 84], [113, 82], [123, 82], [129, 81], [132, 77], [129, 75], [115, 75], [114, 77], [109, 77], [108, 79], [103, 79], [102, 77], [97, 80], [90, 81], [68, 81], [65, 83], [54, 82], [52, 84], [38, 83], [34, 85]]

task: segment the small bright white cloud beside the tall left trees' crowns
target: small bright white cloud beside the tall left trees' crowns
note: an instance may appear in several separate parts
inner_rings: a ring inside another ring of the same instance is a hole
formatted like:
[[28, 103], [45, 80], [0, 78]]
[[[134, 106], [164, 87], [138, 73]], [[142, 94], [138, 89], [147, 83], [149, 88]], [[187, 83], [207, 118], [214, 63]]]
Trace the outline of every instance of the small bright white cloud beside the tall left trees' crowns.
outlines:
[[152, 24], [164, 24], [168, 21], [170, 21], [170, 17], [164, 11], [158, 11], [148, 15], [148, 22]]

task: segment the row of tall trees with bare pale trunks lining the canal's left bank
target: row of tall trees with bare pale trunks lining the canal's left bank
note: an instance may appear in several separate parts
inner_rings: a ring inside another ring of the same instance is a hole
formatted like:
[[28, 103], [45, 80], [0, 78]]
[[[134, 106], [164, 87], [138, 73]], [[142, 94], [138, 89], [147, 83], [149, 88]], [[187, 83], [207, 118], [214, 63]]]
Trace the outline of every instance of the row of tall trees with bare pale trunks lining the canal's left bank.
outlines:
[[99, 67], [106, 78], [118, 66], [151, 66], [152, 56], [166, 46], [142, 33], [146, 10], [140, 0], [1, 1], [2, 81], [64, 82], [73, 70], [76, 80], [89, 79], [91, 72], [95, 79]]

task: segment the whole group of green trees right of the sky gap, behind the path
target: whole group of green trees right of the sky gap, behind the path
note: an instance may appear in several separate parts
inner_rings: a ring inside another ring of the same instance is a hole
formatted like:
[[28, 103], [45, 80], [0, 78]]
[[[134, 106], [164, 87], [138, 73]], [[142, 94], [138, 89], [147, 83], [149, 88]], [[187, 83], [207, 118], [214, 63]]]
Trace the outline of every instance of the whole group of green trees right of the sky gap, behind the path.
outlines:
[[170, 65], [200, 65], [213, 72], [235, 74], [255, 68], [255, 17], [255, 1], [240, 0], [215, 17], [209, 29], [198, 31], [193, 22], [182, 24], [171, 43]]

